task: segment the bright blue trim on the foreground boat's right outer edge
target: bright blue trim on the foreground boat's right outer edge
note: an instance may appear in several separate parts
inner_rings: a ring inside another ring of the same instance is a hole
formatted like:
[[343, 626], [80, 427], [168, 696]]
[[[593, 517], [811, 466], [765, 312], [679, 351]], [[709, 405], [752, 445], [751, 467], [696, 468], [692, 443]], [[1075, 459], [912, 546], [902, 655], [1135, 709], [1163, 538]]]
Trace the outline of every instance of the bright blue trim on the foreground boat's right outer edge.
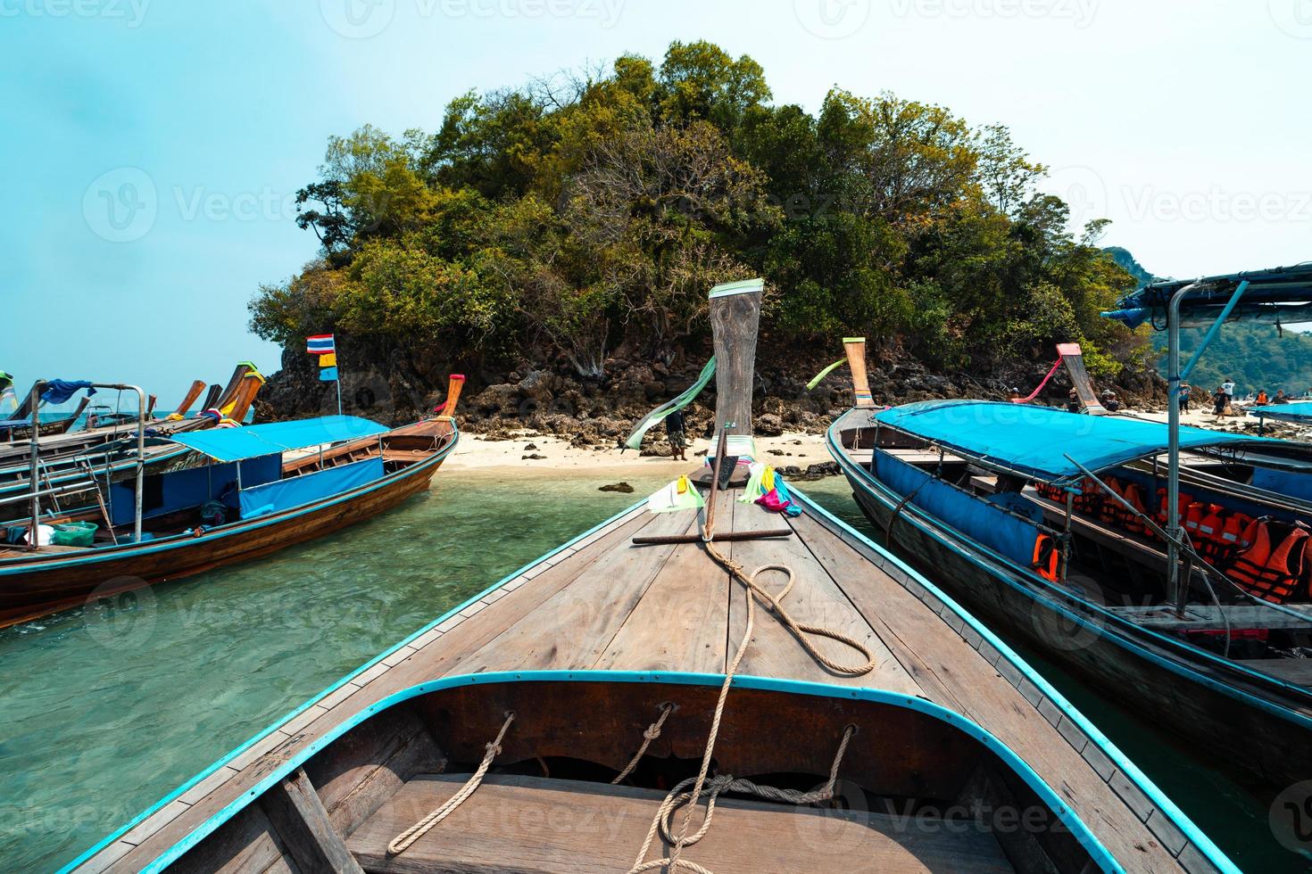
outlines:
[[[829, 455], [834, 459], [834, 461], [838, 463], [838, 466], [844, 468], [845, 470], [846, 469], [851, 469], [851, 468], [855, 468], [857, 470], [861, 470], [861, 466], [853, 464], [851, 460], [848, 459], [846, 453], [842, 451], [842, 447], [838, 446], [834, 442], [834, 430], [833, 430], [833, 426], [830, 426], [829, 431], [825, 435], [825, 439], [827, 439], [827, 442], [829, 444]], [[861, 470], [861, 472], [865, 473], [866, 477], [869, 477], [869, 473], [866, 473], [863, 470]], [[849, 478], [849, 482], [850, 482], [850, 478]], [[796, 491], [796, 490], [794, 489], [794, 491]], [[913, 570], [901, 558], [893, 556], [887, 549], [883, 549], [883, 548], [878, 546], [875, 542], [872, 542], [867, 537], [862, 536], [858, 531], [855, 531], [854, 528], [851, 528], [850, 525], [848, 525], [845, 522], [842, 522], [841, 519], [837, 519], [836, 516], [833, 516], [832, 514], [829, 514], [827, 510], [824, 510], [824, 507], [820, 507], [820, 506], [815, 504], [810, 499], [807, 499], [807, 501], [811, 504], [811, 508], [813, 508], [815, 511], [819, 511], [820, 515], [824, 515], [829, 520], [830, 524], [833, 524], [834, 527], [841, 528], [841, 529], [844, 529], [844, 531], [854, 535], [855, 537], [859, 537], [862, 541], [865, 541], [866, 544], [869, 544], [872, 549], [876, 549], [879, 553], [882, 553], [883, 556], [886, 556], [888, 558], [888, 561], [891, 561], [893, 565], [896, 565], [899, 567], [899, 570], [901, 570], [903, 573], [905, 573], [908, 577], [911, 577], [917, 583], [920, 583], [921, 586], [924, 586], [928, 591], [933, 592], [935, 598], [938, 598], [939, 600], [942, 600], [943, 604], [947, 605], [963, 622], [966, 622], [967, 625], [970, 625], [977, 634], [980, 634], [985, 641], [988, 641], [989, 645], [992, 645], [993, 647], [996, 647], [997, 651], [1001, 653], [1002, 656], [1006, 658], [1012, 663], [1012, 666], [1014, 668], [1017, 668], [1017, 671], [1019, 671], [1025, 676], [1025, 679], [1027, 679], [1030, 683], [1033, 683], [1039, 689], [1039, 692], [1042, 692], [1050, 701], [1052, 701], [1052, 704], [1055, 704], [1057, 706], [1057, 709], [1060, 709], [1061, 713], [1068, 719], [1071, 719], [1071, 722], [1076, 723], [1089, 736], [1089, 740], [1092, 743], [1096, 743], [1098, 746], [1098, 748], [1102, 751], [1102, 753], [1105, 756], [1107, 756], [1107, 759], [1110, 759], [1111, 763], [1135, 786], [1138, 786], [1139, 790], [1143, 791], [1144, 795], [1147, 795], [1148, 799], [1158, 810], [1161, 810], [1164, 814], [1166, 814], [1166, 816], [1176, 824], [1176, 827], [1179, 828], [1181, 832], [1183, 832], [1185, 837], [1187, 837], [1198, 848], [1198, 850], [1200, 853], [1203, 853], [1203, 856], [1207, 857], [1207, 860], [1212, 865], [1215, 865], [1221, 871], [1233, 871], [1235, 874], [1239, 874], [1240, 869], [1233, 862], [1231, 862], [1229, 857], [1227, 857], [1225, 853], [1223, 853], [1221, 849], [1219, 846], [1216, 846], [1216, 844], [1214, 844], [1212, 840], [1207, 835], [1204, 835], [1200, 828], [1198, 828], [1198, 826], [1194, 824], [1194, 822], [1185, 814], [1185, 811], [1182, 811], [1179, 807], [1177, 807], [1176, 803], [1170, 798], [1168, 798], [1166, 794], [1161, 789], [1157, 788], [1157, 784], [1155, 784], [1148, 777], [1148, 774], [1145, 774], [1144, 772], [1141, 772], [1139, 769], [1139, 767], [1135, 765], [1134, 761], [1131, 761], [1123, 752], [1120, 752], [1120, 748], [1117, 747], [1117, 744], [1114, 744], [1110, 738], [1107, 738], [1105, 734], [1102, 734], [1102, 731], [1099, 731], [1097, 729], [1097, 726], [1094, 726], [1092, 722], [1089, 722], [1089, 719], [1080, 710], [1077, 710], [1075, 708], [1075, 705], [1072, 705], [1069, 701], [1067, 701], [1065, 696], [1063, 696], [1060, 692], [1057, 692], [1057, 689], [1051, 683], [1048, 683], [1043, 677], [1043, 675], [1040, 675], [1038, 671], [1035, 671], [1033, 667], [1030, 667], [1029, 663], [1026, 663], [1025, 659], [1022, 659], [1015, 653], [1015, 650], [1013, 650], [1010, 646], [1008, 646], [1005, 642], [1002, 642], [1002, 639], [1000, 637], [997, 637], [992, 630], [988, 629], [988, 626], [985, 626], [977, 618], [975, 618], [968, 611], [966, 611], [966, 608], [963, 608], [960, 604], [958, 604], [956, 600], [954, 600], [947, 592], [942, 591], [941, 588], [938, 588], [938, 586], [935, 586], [934, 583], [929, 582], [929, 579], [926, 579], [920, 573], [917, 573], [916, 570]], [[933, 536], [933, 535], [930, 535], [930, 536]], [[939, 541], [939, 542], [945, 542], [946, 544], [946, 541]], [[958, 552], [959, 554], [964, 556], [967, 560], [972, 561], [974, 563], [977, 563], [977, 565], [980, 563], [980, 562], [976, 562], [975, 558], [970, 553], [967, 553], [964, 550], [960, 550], [960, 549], [956, 549], [951, 544], [946, 544], [946, 545], [949, 548], [954, 549], [955, 552]], [[983, 566], [983, 565], [980, 565], [980, 566]], [[1014, 583], [1008, 583], [1008, 584], [1014, 584]], [[1069, 616], [1072, 618], [1078, 620], [1078, 617], [1075, 616], [1075, 615], [1069, 615]], [[1119, 637], [1119, 636], [1117, 636], [1117, 637]]]

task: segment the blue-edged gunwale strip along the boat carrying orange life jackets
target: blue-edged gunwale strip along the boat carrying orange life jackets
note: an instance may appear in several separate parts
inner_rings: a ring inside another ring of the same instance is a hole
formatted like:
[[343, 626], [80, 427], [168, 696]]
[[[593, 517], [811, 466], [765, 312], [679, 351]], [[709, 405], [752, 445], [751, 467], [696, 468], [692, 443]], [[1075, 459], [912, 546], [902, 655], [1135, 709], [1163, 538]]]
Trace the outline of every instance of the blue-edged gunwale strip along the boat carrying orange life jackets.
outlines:
[[[834, 426], [837, 426], [837, 422], [834, 423]], [[872, 487], [867, 486], [867, 491], [871, 491], [872, 494], [878, 495], [888, 506], [896, 506], [897, 503], [900, 503], [900, 499], [903, 498], [903, 495], [899, 494], [897, 491], [893, 491], [882, 480], [879, 480], [878, 477], [875, 477], [870, 472], [865, 470], [865, 468], [861, 468], [861, 465], [858, 465], [854, 461], [851, 461], [850, 459], [848, 459], [846, 453], [842, 452], [842, 449], [841, 449], [841, 444], [838, 444], [836, 447], [830, 442], [829, 451], [830, 451], [830, 455], [833, 455], [834, 459], [838, 460], [838, 466], [845, 468], [845, 469], [848, 469], [848, 468], [855, 468], [855, 469], [858, 469], [861, 472], [859, 476], [861, 476], [862, 484], [865, 484], [865, 482], [869, 481], [871, 484], [871, 486], [872, 486]], [[850, 482], [851, 477], [848, 477], [848, 481]], [[951, 484], [947, 484], [947, 485], [951, 485]], [[954, 487], [958, 487], [958, 486], [954, 486]], [[875, 489], [879, 489], [879, 491], [875, 491]], [[888, 501], [887, 498], [883, 497], [883, 493], [886, 493], [888, 495], [896, 495], [897, 501]], [[988, 560], [993, 565], [1000, 565], [1001, 566], [1000, 567], [1001, 573], [993, 573], [993, 571], [988, 570], [988, 567], [985, 566], [985, 570], [992, 577], [994, 577], [994, 578], [1001, 578], [1001, 577], [1019, 577], [1021, 579], [1031, 583], [1030, 586], [1019, 586], [1019, 584], [1017, 584], [1015, 582], [1013, 582], [1010, 579], [1005, 580], [1009, 586], [1012, 586], [1017, 591], [1023, 592], [1031, 600], [1036, 600], [1036, 601], [1043, 603], [1044, 605], [1048, 607], [1048, 609], [1060, 612], [1063, 616], [1065, 616], [1065, 617], [1068, 617], [1068, 618], [1078, 622], [1080, 625], [1082, 625], [1085, 628], [1093, 629], [1094, 632], [1097, 632], [1099, 634], [1107, 634], [1109, 637], [1111, 637], [1115, 641], [1124, 642], [1126, 643], [1126, 649], [1131, 649], [1131, 650], [1141, 654], [1144, 658], [1148, 658], [1148, 659], [1156, 662], [1157, 664], [1161, 664], [1162, 667], [1166, 667], [1168, 670], [1173, 671], [1174, 674], [1187, 675], [1190, 679], [1195, 679], [1198, 683], [1202, 683], [1203, 685], [1207, 685], [1207, 687], [1210, 687], [1212, 689], [1216, 689], [1219, 692], [1229, 694], [1231, 697], [1240, 696], [1240, 697], [1244, 697], [1244, 698], [1250, 698], [1252, 702], [1253, 702], [1253, 705], [1258, 706], [1260, 709], [1267, 710], [1267, 712], [1270, 712], [1270, 713], [1273, 713], [1275, 715], [1281, 715], [1282, 718], [1286, 718], [1286, 719], [1288, 719], [1291, 722], [1303, 723], [1303, 726], [1307, 727], [1307, 729], [1312, 729], [1312, 717], [1308, 717], [1308, 715], [1305, 715], [1303, 713], [1299, 713], [1299, 712], [1296, 712], [1296, 710], [1294, 710], [1291, 708], [1274, 704], [1274, 702], [1269, 701], [1267, 698], [1257, 696], [1253, 692], [1249, 692], [1246, 689], [1241, 689], [1241, 688], [1239, 688], [1239, 687], [1236, 687], [1233, 684], [1224, 683], [1223, 680], [1218, 679], [1216, 676], [1212, 676], [1212, 675], [1208, 675], [1208, 674], [1203, 674], [1199, 670], [1197, 670], [1197, 667], [1194, 667], [1194, 662], [1197, 659], [1194, 659], [1194, 660], [1185, 659], [1179, 654], [1181, 653], [1189, 653], [1189, 654], [1195, 654], [1197, 653], [1199, 656], [1202, 656], [1202, 660], [1204, 663], [1207, 663], [1210, 667], [1216, 668], [1218, 674], [1221, 675], [1221, 676], [1224, 676], [1227, 674], [1239, 675], [1239, 677], [1254, 681], [1257, 685], [1275, 687], [1275, 691], [1288, 692], [1288, 693], [1292, 693], [1295, 697], [1300, 697], [1300, 698], [1309, 698], [1309, 697], [1312, 697], [1312, 692], [1309, 692], [1308, 689], [1305, 689], [1303, 687], [1299, 687], [1299, 685], [1294, 685], [1294, 684], [1291, 684], [1291, 683], [1288, 683], [1288, 681], [1286, 681], [1286, 680], [1283, 680], [1281, 677], [1275, 677], [1275, 676], [1271, 676], [1269, 674], [1262, 674], [1261, 671], [1254, 671], [1253, 668], [1244, 666], [1242, 662], [1227, 660], [1223, 656], [1216, 655], [1215, 653], [1210, 653], [1208, 650], [1204, 650], [1202, 647], [1189, 646], [1187, 643], [1185, 643], [1185, 642], [1182, 642], [1182, 641], [1179, 641], [1177, 638], [1173, 638], [1173, 637], [1170, 637], [1168, 634], [1164, 634], [1164, 633], [1161, 633], [1161, 632], [1158, 632], [1156, 629], [1152, 629], [1152, 628], [1148, 628], [1148, 626], [1144, 626], [1144, 625], [1139, 625], [1139, 624], [1134, 622], [1132, 620], [1130, 620], [1130, 618], [1127, 618], [1124, 616], [1120, 616], [1120, 615], [1118, 615], [1118, 613], [1115, 613], [1113, 611], [1109, 611], [1106, 607], [1103, 607], [1103, 605], [1101, 605], [1101, 604], [1098, 604], [1096, 601], [1090, 601], [1088, 599], [1080, 598], [1080, 595], [1077, 595], [1075, 591], [1059, 588], [1051, 580], [1044, 579], [1043, 577], [1039, 577], [1038, 574], [1035, 574], [1029, 567], [1023, 567], [1023, 566], [1018, 565], [1017, 562], [1012, 561], [1006, 556], [1002, 556], [1001, 553], [998, 553], [997, 550], [992, 549], [987, 544], [983, 544], [979, 540], [976, 540], [976, 539], [971, 537], [970, 535], [967, 535], [966, 532], [963, 532], [963, 531], [960, 531], [958, 528], [954, 528], [953, 525], [950, 525], [946, 522], [938, 519], [933, 514], [929, 514], [924, 508], [916, 506], [914, 502], [907, 502], [903, 506], [901, 515], [905, 519], [908, 519], [909, 522], [916, 523], [922, 531], [925, 531], [926, 533], [929, 533], [929, 536], [934, 537], [934, 540], [937, 540], [938, 542], [941, 542], [945, 546], [947, 546], [949, 549], [954, 549], [959, 554], [964, 556], [972, 563], [975, 563], [975, 565], [984, 565], [984, 562], [981, 560]], [[933, 531], [930, 528], [933, 528]], [[938, 533], [934, 533], [934, 531], [942, 532], [942, 536], [938, 535]], [[958, 540], [962, 545], [968, 546], [968, 549], [959, 549], [956, 546], [956, 544], [951, 542], [953, 539]], [[976, 558], [976, 554], [979, 556], [979, 558]], [[1051, 598], [1051, 596], [1056, 596], [1056, 598], [1059, 598], [1061, 600], [1054, 600], [1054, 598]], [[1076, 607], [1081, 608], [1085, 612], [1084, 613], [1075, 612], [1075, 611], [1069, 609], [1071, 605], [1076, 605]], [[1098, 625], [1098, 624], [1090, 621], [1092, 618], [1102, 618], [1102, 620], [1106, 620], [1106, 621], [1102, 625]], [[1111, 626], [1111, 628], [1109, 628], [1109, 626]], [[1127, 634], [1126, 632], [1130, 632], [1130, 634]], [[1149, 643], [1153, 643], [1164, 654], [1170, 655], [1172, 658], [1164, 658], [1162, 655], [1160, 655], [1160, 654], [1157, 654], [1157, 653], [1155, 653], [1155, 651], [1152, 651], [1149, 649], [1145, 649], [1143, 646], [1143, 643], [1140, 643], [1140, 642], [1138, 642], [1135, 639], [1135, 637], [1147, 637], [1147, 638], [1149, 638], [1148, 639]]]

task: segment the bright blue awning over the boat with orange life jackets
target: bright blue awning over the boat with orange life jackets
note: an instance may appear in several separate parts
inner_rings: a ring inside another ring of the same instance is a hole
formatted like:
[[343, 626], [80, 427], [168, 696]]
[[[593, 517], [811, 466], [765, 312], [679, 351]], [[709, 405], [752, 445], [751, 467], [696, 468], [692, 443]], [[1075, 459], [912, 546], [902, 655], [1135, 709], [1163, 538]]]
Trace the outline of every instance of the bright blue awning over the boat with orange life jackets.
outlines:
[[[962, 456], [1052, 482], [1080, 477], [1075, 461], [1098, 472], [1165, 452], [1169, 443], [1165, 422], [1122, 415], [1078, 415], [1047, 406], [996, 401], [922, 401], [883, 410], [875, 414], [874, 421]], [[1183, 449], [1271, 443], [1287, 442], [1195, 427], [1179, 428]]]

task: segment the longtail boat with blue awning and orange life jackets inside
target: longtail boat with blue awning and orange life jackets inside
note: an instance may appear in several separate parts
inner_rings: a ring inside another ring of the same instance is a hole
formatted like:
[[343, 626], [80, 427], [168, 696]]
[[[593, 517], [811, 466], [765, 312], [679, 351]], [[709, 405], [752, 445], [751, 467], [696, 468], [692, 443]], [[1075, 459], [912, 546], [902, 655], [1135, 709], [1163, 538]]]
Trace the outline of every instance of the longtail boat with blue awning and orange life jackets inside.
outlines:
[[[1156, 422], [985, 401], [851, 410], [829, 430], [857, 502], [901, 554], [993, 628], [1270, 799], [1312, 774], [1312, 562], [1300, 528], [1312, 516], [1187, 485], [1193, 548], [1172, 591], [1165, 469], [1153, 461], [1166, 443]], [[1181, 430], [1195, 456], [1236, 465], [1274, 443]], [[1262, 556], [1248, 542], [1257, 535]], [[1288, 590], [1267, 586], [1278, 563]]]

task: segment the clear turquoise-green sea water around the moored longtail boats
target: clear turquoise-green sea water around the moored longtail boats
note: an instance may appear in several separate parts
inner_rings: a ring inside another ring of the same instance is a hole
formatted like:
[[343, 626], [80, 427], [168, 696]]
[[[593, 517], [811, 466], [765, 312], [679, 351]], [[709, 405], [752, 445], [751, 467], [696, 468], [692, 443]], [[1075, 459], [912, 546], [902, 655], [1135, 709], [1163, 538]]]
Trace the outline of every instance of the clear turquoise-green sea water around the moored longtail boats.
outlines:
[[[70, 861], [307, 697], [664, 476], [440, 472], [404, 507], [268, 560], [0, 632], [0, 870]], [[806, 491], [871, 533], [838, 478]], [[1036, 664], [1245, 870], [1302, 870], [1266, 811]]]

